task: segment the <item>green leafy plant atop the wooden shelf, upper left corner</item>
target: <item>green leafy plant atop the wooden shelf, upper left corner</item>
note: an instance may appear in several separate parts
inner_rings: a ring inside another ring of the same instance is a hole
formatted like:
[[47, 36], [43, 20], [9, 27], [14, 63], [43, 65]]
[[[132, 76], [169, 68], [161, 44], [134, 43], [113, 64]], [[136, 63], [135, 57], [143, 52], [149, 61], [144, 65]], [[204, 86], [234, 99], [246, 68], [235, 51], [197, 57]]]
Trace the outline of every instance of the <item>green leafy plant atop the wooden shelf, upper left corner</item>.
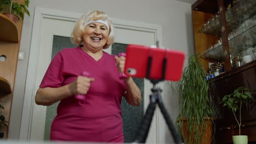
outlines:
[[0, 12], [4, 15], [10, 17], [15, 23], [19, 20], [24, 18], [24, 13], [30, 16], [30, 11], [28, 11], [28, 5], [30, 4], [29, 0], [25, 0], [25, 4], [18, 3], [17, 0], [1, 0], [0, 1]]

